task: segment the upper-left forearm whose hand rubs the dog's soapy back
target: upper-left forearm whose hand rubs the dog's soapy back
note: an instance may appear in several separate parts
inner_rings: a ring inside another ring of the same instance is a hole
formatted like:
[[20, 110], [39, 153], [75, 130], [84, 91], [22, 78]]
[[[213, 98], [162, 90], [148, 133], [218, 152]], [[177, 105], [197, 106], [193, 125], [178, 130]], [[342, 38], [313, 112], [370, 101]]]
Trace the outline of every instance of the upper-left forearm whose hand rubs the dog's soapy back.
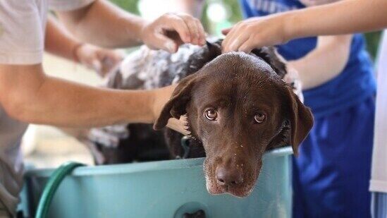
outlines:
[[58, 12], [66, 27], [84, 42], [102, 47], [130, 47], [141, 43], [140, 33], [146, 21], [126, 13], [108, 1], [70, 12]]

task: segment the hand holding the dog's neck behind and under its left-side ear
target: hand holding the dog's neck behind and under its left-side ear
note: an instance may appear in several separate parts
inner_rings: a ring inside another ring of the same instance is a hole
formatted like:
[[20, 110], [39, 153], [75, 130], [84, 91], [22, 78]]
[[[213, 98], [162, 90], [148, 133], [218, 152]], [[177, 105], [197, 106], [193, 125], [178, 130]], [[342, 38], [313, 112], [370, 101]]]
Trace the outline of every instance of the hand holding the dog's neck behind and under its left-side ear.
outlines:
[[[164, 105], [171, 98], [173, 90], [175, 90], [177, 84], [169, 85], [167, 87], [162, 87], [156, 90], [152, 90], [153, 97], [153, 117], [154, 121], [161, 114], [161, 110], [164, 108]], [[168, 120], [168, 124], [166, 125], [168, 128], [173, 129], [174, 131], [178, 131], [183, 133], [184, 135], [188, 135], [190, 132], [187, 131], [187, 117], [180, 116], [180, 119], [171, 118]]]

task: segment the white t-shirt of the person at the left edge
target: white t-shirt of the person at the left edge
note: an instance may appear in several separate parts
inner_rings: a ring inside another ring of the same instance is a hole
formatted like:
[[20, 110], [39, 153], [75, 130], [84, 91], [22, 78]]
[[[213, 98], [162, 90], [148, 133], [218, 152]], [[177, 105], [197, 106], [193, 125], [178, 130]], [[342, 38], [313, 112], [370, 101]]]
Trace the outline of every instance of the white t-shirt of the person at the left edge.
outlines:
[[[0, 0], [0, 63], [42, 63], [49, 8], [71, 11], [94, 0]], [[0, 104], [0, 200], [15, 213], [23, 162], [20, 138], [27, 123], [11, 119]]]

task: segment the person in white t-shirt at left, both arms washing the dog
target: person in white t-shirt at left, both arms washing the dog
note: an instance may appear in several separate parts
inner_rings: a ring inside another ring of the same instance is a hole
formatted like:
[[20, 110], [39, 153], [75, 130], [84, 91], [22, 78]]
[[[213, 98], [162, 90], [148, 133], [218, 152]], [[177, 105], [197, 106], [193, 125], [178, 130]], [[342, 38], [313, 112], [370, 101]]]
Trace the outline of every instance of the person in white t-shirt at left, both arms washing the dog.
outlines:
[[[75, 37], [66, 35], [53, 20], [47, 24], [49, 9]], [[177, 34], [170, 34], [173, 32]], [[100, 61], [109, 52], [83, 43], [106, 48], [143, 43], [176, 52], [183, 43], [205, 44], [205, 35], [199, 20], [192, 16], [167, 13], [148, 22], [105, 0], [0, 0], [1, 217], [15, 216], [23, 176], [20, 138], [27, 123], [63, 127], [152, 123], [176, 87], [106, 90], [44, 74], [45, 47], [48, 52], [100, 69]], [[90, 56], [85, 58], [82, 52]], [[171, 119], [168, 126], [184, 132], [180, 121]]]

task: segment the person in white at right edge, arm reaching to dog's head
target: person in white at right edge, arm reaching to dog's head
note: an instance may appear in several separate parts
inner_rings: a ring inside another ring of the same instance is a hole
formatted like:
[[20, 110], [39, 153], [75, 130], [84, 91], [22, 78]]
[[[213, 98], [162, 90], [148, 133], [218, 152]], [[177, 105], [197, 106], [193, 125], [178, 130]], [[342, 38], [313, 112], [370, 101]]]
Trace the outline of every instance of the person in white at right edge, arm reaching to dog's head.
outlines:
[[[317, 0], [305, 0], [313, 4]], [[327, 0], [329, 1], [329, 0]], [[339, 1], [273, 16], [251, 18], [223, 30], [223, 52], [250, 52], [299, 37], [342, 35], [387, 28], [386, 0]], [[376, 120], [370, 190], [372, 217], [387, 217], [387, 32], [377, 68]], [[357, 190], [353, 190], [354, 192]], [[356, 210], [356, 208], [348, 208]]]

